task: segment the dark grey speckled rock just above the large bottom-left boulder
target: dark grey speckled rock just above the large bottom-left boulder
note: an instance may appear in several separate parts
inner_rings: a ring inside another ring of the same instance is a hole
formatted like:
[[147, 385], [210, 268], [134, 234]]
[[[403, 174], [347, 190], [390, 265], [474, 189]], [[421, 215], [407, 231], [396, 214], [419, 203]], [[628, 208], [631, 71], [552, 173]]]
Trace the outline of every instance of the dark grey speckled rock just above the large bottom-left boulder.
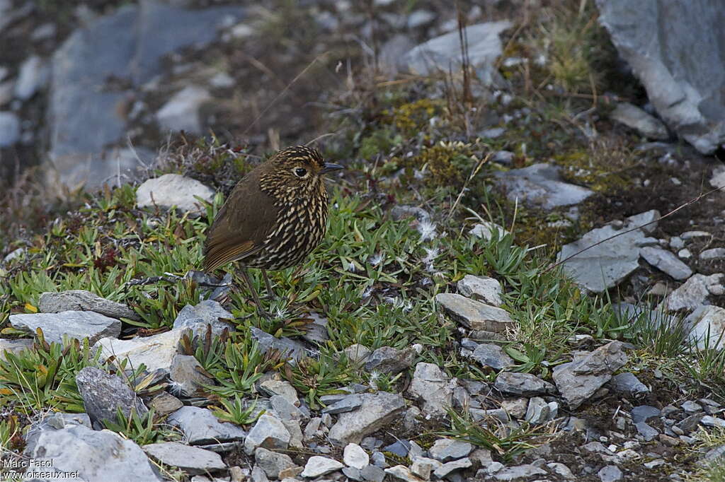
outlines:
[[132, 410], [140, 417], [149, 412], [128, 383], [99, 368], [83, 368], [75, 375], [75, 384], [94, 426], [103, 427], [104, 420], [117, 422], [116, 410], [119, 408], [127, 418]]

